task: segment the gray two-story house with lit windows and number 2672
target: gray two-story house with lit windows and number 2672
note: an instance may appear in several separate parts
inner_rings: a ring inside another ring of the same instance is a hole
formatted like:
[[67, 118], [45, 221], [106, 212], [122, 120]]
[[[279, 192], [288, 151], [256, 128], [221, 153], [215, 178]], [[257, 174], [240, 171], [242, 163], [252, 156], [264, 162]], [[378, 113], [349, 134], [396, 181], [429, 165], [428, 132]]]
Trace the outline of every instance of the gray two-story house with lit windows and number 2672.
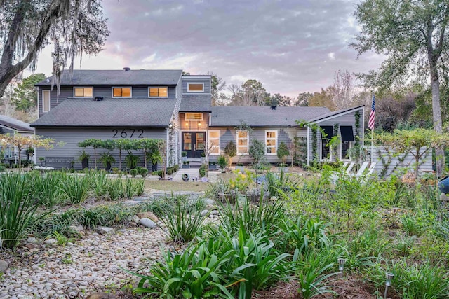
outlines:
[[[304, 156], [310, 164], [314, 157], [344, 159], [354, 142], [363, 139], [363, 106], [334, 112], [324, 107], [211, 106], [210, 76], [186, 76], [182, 70], [65, 71], [59, 94], [51, 81], [50, 77], [36, 84], [39, 119], [31, 126], [36, 134], [65, 145], [38, 148], [36, 156], [67, 157], [76, 161], [78, 169], [78, 143], [88, 138], [165, 139], [168, 165], [179, 163], [182, 152], [188, 160], [200, 160], [210, 144], [210, 160], [217, 160], [229, 141], [237, 145], [234, 162], [249, 163], [254, 138], [265, 145], [267, 161], [272, 163], [281, 162], [276, 155], [281, 142], [292, 146], [304, 139]], [[311, 124], [321, 128], [315, 130]], [[341, 135], [342, 141], [330, 153], [326, 144], [333, 134]]]

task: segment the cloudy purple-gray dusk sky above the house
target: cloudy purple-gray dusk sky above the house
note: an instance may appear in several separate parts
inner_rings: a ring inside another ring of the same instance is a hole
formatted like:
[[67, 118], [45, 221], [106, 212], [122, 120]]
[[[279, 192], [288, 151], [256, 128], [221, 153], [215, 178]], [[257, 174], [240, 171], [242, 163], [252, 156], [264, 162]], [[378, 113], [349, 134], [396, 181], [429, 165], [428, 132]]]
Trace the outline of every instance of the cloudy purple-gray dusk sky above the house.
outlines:
[[[268, 92], [296, 97], [333, 83], [334, 72], [377, 69], [382, 57], [357, 59], [356, 1], [105, 0], [105, 49], [81, 69], [213, 71], [227, 85], [257, 79]], [[79, 63], [76, 69], [80, 69]], [[51, 74], [51, 50], [37, 72]]]

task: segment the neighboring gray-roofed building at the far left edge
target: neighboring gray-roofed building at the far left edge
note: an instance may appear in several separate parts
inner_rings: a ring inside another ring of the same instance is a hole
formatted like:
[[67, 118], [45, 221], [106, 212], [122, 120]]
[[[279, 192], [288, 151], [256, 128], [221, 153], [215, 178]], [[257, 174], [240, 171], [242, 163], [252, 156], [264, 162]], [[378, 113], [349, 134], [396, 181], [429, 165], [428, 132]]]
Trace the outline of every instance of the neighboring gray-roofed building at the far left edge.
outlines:
[[[9, 116], [0, 115], [0, 134], [22, 134], [24, 136], [34, 136], [34, 129], [29, 126], [28, 123], [22, 122], [21, 120], [10, 118]], [[20, 159], [24, 160], [27, 158], [27, 148], [22, 148], [20, 153]], [[0, 158], [4, 160], [6, 164], [12, 165], [18, 162], [18, 149], [12, 146], [2, 147], [0, 144]], [[33, 162], [35, 157], [33, 157]]]

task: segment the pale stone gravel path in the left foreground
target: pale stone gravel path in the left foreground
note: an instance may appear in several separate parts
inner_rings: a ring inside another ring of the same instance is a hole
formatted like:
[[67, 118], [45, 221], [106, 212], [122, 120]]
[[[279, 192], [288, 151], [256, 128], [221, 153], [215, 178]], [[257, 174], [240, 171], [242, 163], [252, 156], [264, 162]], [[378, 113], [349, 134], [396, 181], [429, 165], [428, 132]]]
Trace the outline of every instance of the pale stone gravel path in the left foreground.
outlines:
[[147, 269], [161, 258], [159, 244], [165, 239], [160, 228], [87, 232], [66, 246], [30, 238], [12, 255], [0, 256], [10, 263], [0, 277], [0, 298], [86, 298], [95, 291], [119, 290], [138, 281], [119, 267]]

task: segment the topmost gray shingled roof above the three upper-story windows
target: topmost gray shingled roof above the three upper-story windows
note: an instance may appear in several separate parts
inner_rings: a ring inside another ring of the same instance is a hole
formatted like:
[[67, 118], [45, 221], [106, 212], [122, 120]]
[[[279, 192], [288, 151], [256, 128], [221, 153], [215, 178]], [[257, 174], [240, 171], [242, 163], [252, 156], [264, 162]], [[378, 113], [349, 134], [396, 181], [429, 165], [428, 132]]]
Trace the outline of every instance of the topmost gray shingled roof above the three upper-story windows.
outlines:
[[[73, 73], [64, 71], [61, 85], [176, 85], [182, 75], [181, 69], [136, 69], [122, 70], [81, 70]], [[51, 85], [51, 78], [45, 78], [36, 86]]]

